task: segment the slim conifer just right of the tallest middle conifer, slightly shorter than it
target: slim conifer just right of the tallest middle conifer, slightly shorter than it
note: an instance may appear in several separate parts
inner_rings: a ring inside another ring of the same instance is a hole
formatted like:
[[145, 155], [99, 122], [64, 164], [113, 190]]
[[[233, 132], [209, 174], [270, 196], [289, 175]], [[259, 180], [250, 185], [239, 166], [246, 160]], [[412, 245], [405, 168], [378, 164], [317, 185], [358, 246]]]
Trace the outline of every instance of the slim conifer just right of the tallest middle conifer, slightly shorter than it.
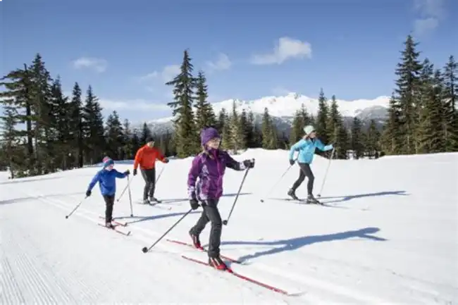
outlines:
[[197, 76], [197, 101], [196, 101], [196, 127], [197, 130], [202, 130], [204, 127], [215, 126], [216, 116], [213, 112], [213, 107], [207, 100], [206, 78], [202, 71], [199, 71]]

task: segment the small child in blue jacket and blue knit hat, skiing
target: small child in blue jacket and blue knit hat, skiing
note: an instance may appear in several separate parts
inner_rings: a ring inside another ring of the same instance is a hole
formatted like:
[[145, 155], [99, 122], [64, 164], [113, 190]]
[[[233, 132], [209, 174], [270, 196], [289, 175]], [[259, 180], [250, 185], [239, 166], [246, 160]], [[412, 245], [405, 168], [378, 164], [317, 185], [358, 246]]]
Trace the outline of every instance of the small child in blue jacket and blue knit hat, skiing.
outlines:
[[106, 208], [105, 208], [105, 225], [107, 228], [114, 228], [114, 225], [111, 223], [113, 220], [113, 204], [114, 197], [116, 194], [116, 178], [125, 178], [130, 172], [126, 170], [124, 173], [118, 172], [114, 169], [114, 161], [105, 157], [103, 160], [103, 168], [94, 175], [92, 181], [87, 187], [86, 196], [91, 196], [92, 188], [99, 182], [101, 195], [104, 197]]

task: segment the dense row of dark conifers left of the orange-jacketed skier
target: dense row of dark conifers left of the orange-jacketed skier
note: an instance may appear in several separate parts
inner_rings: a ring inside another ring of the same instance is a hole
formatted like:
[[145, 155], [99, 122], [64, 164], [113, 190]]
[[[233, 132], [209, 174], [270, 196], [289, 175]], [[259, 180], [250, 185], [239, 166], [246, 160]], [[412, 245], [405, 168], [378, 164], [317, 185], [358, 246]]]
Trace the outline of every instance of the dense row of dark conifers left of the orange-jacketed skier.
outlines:
[[60, 77], [51, 77], [40, 54], [2, 77], [0, 85], [0, 167], [11, 170], [11, 178], [80, 168], [103, 156], [133, 158], [150, 134], [147, 128], [132, 130], [116, 111], [104, 120], [90, 85], [83, 94], [75, 82], [66, 97]]

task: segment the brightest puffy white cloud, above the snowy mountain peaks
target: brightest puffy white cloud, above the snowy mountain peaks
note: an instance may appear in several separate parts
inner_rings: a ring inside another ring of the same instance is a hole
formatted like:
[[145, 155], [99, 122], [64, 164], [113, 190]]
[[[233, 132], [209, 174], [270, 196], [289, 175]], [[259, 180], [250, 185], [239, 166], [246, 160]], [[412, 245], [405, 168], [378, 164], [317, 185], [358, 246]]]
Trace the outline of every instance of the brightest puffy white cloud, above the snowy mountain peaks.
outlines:
[[254, 55], [251, 62], [254, 65], [271, 65], [273, 63], [280, 65], [290, 58], [306, 57], [311, 57], [311, 44], [309, 42], [302, 42], [290, 37], [280, 37], [271, 54]]

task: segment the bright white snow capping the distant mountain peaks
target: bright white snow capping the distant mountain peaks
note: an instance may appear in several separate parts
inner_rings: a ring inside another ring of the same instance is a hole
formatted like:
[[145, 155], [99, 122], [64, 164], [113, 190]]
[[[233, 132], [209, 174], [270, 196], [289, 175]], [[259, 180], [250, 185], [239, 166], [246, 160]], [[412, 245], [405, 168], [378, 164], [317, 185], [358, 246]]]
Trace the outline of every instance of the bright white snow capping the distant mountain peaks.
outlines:
[[[330, 97], [327, 97], [330, 101]], [[388, 108], [390, 103], [390, 97], [376, 97], [375, 99], [357, 99], [354, 101], [345, 101], [342, 99], [336, 99], [339, 111], [342, 116], [357, 116], [365, 109], [372, 107], [383, 107]], [[264, 108], [268, 108], [269, 114], [276, 117], [291, 117], [294, 116], [295, 112], [302, 107], [302, 104], [307, 108], [307, 112], [316, 116], [318, 113], [318, 99], [307, 97], [302, 94], [290, 92], [284, 96], [269, 96], [261, 97], [250, 101], [241, 99], [227, 99], [225, 101], [219, 101], [213, 103], [213, 111], [219, 113], [222, 108], [226, 111], [232, 111], [233, 102], [237, 106], [237, 111], [241, 112], [242, 109], [245, 111], [253, 111], [253, 113], [264, 113]], [[173, 117], [159, 118], [151, 120], [149, 123], [167, 123], [170, 122]]]

